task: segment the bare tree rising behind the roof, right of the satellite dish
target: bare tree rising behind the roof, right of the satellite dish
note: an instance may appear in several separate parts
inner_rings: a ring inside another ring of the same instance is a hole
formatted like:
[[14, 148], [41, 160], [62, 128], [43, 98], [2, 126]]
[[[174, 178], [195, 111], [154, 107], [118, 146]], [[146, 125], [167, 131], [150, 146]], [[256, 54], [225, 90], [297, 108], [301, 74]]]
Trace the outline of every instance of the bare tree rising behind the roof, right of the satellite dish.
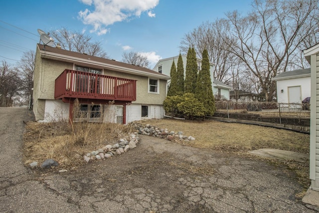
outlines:
[[53, 29], [49, 33], [55, 42], [60, 43], [63, 49], [108, 58], [108, 54], [102, 49], [101, 42], [92, 41], [92, 37], [82, 32], [72, 31], [63, 27]]

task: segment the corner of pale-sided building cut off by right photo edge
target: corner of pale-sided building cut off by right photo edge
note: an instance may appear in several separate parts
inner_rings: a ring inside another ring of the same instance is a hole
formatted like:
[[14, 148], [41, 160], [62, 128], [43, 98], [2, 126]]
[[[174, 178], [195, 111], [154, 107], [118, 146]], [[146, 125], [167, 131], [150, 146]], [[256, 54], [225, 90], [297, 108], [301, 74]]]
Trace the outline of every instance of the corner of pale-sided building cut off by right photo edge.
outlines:
[[311, 65], [310, 188], [319, 191], [319, 44], [304, 50], [304, 55]]

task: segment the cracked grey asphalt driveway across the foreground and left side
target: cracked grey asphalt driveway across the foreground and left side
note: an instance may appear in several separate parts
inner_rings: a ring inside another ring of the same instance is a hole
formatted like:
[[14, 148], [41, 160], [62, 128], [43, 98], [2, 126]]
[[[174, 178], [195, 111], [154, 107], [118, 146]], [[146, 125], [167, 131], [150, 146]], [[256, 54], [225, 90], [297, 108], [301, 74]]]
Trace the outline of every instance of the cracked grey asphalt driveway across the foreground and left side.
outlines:
[[0, 108], [0, 212], [311, 213], [287, 168], [141, 136], [120, 156], [58, 173], [22, 164], [25, 108]]

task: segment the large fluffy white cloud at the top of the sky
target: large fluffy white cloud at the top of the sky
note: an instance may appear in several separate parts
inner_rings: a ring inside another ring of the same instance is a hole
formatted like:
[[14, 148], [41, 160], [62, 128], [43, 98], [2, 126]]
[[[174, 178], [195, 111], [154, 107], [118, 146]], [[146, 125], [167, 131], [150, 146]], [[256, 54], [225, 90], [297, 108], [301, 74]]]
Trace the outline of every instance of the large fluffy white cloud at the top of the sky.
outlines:
[[117, 21], [123, 21], [131, 16], [140, 16], [149, 11], [150, 17], [155, 17], [151, 9], [155, 8], [159, 0], [82, 0], [84, 4], [94, 5], [94, 11], [85, 9], [79, 12], [79, 18], [84, 24], [93, 25], [91, 31], [105, 34], [109, 31], [106, 26]]

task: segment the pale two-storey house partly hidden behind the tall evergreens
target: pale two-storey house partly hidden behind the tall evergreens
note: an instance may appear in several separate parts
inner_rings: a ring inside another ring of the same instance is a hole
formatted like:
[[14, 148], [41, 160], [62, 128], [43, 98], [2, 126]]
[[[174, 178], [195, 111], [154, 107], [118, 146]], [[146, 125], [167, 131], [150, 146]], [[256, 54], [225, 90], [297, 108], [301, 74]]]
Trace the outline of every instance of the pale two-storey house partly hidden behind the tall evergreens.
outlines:
[[[184, 65], [184, 76], [186, 72], [186, 57], [187, 55], [182, 55], [182, 60]], [[153, 68], [153, 70], [169, 76], [170, 68], [171, 68], [171, 64], [173, 63], [173, 60], [177, 67], [178, 56], [175, 56], [175, 57], [160, 59], [159, 62]], [[201, 69], [201, 59], [197, 58], [197, 70], [200, 70], [200, 69]], [[217, 79], [214, 79], [213, 78], [214, 70], [215, 70], [215, 65], [213, 63], [210, 63], [210, 77], [212, 79], [213, 94], [214, 96], [219, 95], [220, 97], [224, 97], [225, 99], [228, 100], [229, 90], [231, 89], [231, 87]]]

